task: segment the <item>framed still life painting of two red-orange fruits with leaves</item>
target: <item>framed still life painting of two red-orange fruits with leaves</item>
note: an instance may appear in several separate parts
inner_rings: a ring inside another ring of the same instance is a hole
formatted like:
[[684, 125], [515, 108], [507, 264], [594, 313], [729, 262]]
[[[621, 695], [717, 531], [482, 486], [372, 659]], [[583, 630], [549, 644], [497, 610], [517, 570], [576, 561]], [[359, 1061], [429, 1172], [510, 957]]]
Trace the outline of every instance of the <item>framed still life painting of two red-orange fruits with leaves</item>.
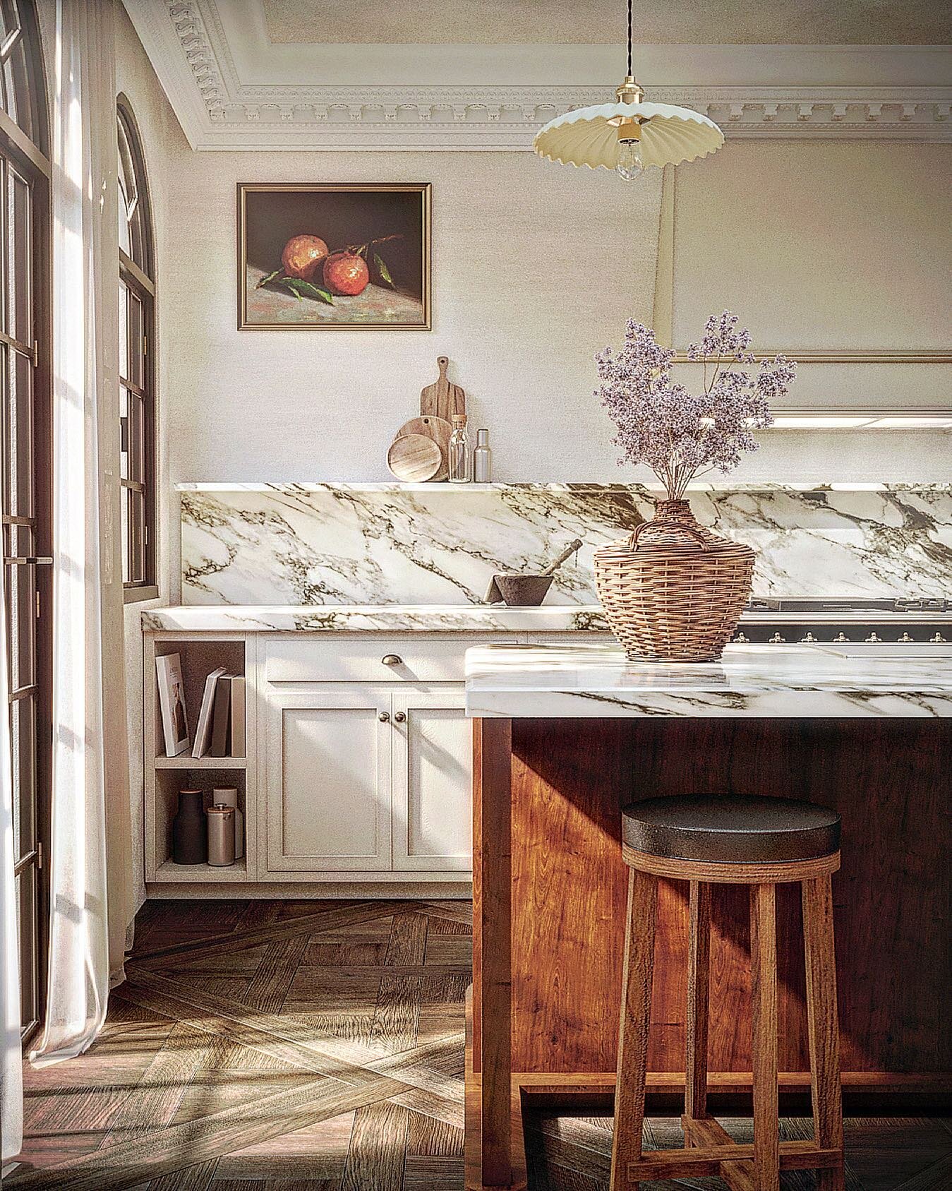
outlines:
[[239, 182], [238, 330], [428, 331], [428, 182]]

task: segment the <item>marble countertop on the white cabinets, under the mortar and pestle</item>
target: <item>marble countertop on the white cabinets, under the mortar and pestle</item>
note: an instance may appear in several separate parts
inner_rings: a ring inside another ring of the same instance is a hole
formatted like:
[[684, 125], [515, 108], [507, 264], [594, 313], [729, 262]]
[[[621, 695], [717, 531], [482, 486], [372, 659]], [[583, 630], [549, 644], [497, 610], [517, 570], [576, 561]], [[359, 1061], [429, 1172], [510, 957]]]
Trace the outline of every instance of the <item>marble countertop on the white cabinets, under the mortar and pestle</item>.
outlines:
[[597, 604], [186, 604], [142, 613], [146, 632], [607, 632]]

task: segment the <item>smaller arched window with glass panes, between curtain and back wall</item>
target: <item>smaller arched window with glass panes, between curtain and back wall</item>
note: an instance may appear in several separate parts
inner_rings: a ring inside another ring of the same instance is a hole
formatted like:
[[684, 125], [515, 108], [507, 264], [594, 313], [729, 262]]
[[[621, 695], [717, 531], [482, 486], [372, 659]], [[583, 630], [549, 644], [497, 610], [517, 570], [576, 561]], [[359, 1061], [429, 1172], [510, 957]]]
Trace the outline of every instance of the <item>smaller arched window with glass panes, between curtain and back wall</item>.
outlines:
[[156, 586], [155, 252], [142, 141], [124, 95], [119, 136], [119, 419], [123, 485], [123, 581], [126, 601]]

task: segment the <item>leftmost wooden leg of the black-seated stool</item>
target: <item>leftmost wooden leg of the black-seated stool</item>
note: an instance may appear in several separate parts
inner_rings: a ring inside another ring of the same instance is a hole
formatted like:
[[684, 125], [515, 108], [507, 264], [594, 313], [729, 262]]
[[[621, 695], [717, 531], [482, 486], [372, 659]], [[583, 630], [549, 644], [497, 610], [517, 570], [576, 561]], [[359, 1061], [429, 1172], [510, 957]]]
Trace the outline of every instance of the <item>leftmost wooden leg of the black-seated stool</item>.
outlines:
[[630, 869], [618, 1039], [615, 1133], [612, 1142], [612, 1191], [638, 1186], [637, 1183], [628, 1183], [627, 1166], [641, 1156], [657, 905], [656, 878], [637, 868]]

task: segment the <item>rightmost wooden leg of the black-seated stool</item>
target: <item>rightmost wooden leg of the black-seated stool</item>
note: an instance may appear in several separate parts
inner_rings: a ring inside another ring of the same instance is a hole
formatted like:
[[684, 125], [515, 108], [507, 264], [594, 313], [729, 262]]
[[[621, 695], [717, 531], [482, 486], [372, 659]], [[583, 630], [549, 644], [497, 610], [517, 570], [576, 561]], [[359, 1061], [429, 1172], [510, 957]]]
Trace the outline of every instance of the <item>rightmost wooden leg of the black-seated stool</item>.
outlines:
[[[807, 1029], [810, 1039], [813, 1131], [823, 1149], [843, 1149], [840, 1028], [833, 950], [833, 887], [829, 874], [803, 881], [803, 953], [807, 961]], [[843, 1167], [818, 1171], [819, 1191], [844, 1191]]]

